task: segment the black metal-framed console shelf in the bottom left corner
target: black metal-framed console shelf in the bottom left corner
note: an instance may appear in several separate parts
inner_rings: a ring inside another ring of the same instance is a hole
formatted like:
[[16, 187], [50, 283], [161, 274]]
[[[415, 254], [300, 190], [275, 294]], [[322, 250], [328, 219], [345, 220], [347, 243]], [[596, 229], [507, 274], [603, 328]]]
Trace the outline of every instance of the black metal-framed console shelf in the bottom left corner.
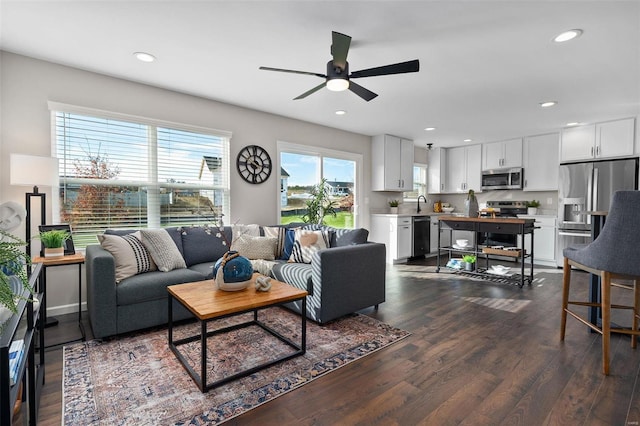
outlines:
[[[42, 265], [37, 263], [31, 265], [29, 284], [31, 288], [36, 288], [36, 283], [40, 278]], [[29, 425], [36, 425], [38, 421], [38, 403], [42, 385], [44, 384], [44, 350], [38, 349], [39, 357], [36, 362], [36, 340], [38, 348], [44, 348], [44, 333], [42, 321], [39, 321], [39, 304], [34, 308], [34, 304], [24, 300], [33, 299], [35, 296], [42, 300], [42, 294], [31, 294], [25, 290], [22, 293], [23, 299], [18, 301], [17, 314], [9, 317], [3, 324], [0, 324], [0, 424], [10, 425], [13, 421], [13, 408], [18, 398], [21, 398], [27, 405], [27, 418]], [[11, 384], [9, 373], [9, 348], [15, 339], [23, 339], [25, 344], [25, 356], [18, 365], [18, 374], [15, 384]], [[22, 392], [20, 390], [22, 383]], [[23, 406], [24, 410], [24, 406]], [[24, 415], [24, 411], [23, 411]]]

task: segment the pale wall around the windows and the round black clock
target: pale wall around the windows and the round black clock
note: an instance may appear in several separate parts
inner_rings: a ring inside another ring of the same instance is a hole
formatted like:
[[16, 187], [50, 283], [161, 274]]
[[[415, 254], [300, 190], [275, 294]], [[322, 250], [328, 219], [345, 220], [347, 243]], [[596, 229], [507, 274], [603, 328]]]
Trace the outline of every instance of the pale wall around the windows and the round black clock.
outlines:
[[[276, 141], [322, 146], [364, 156], [364, 198], [383, 205], [371, 193], [371, 138], [324, 126], [249, 110], [195, 96], [158, 89], [93, 72], [69, 68], [8, 52], [0, 52], [0, 202], [24, 204], [28, 188], [9, 185], [9, 154], [51, 155], [48, 101], [150, 117], [233, 132], [232, 163], [240, 148], [256, 144], [274, 158]], [[278, 173], [267, 182], [251, 185], [231, 167], [231, 217], [226, 222], [274, 224], [278, 222]], [[51, 200], [50, 188], [45, 189]], [[51, 223], [48, 201], [47, 223]], [[369, 226], [369, 205], [360, 208], [358, 226]], [[24, 229], [17, 231], [24, 236]], [[35, 254], [35, 253], [34, 253]], [[49, 269], [48, 311], [77, 310], [77, 269]], [[84, 287], [84, 283], [83, 283]], [[84, 288], [83, 288], [84, 293]], [[83, 294], [83, 300], [85, 299]]]

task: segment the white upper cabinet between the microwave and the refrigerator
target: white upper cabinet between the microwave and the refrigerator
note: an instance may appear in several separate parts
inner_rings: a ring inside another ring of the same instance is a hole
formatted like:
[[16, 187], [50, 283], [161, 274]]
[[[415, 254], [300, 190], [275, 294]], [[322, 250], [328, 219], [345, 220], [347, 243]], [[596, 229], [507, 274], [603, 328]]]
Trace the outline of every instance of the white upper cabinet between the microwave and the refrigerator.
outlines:
[[558, 190], [559, 133], [524, 138], [522, 164], [523, 191]]

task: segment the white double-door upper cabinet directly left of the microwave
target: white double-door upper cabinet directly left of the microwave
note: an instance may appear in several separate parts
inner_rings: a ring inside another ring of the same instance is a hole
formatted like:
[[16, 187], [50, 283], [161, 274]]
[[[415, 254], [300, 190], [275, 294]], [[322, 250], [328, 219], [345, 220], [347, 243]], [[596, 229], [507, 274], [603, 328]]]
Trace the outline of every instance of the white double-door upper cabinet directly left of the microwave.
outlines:
[[447, 149], [445, 192], [480, 192], [482, 146], [471, 145]]

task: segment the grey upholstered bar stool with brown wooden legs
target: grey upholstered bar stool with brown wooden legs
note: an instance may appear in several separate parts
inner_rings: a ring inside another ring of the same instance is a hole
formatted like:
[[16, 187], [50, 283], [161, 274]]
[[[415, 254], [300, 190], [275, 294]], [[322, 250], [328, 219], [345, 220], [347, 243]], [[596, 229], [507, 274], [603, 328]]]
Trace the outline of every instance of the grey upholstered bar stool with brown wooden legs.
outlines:
[[[602, 372], [609, 374], [609, 342], [612, 332], [631, 335], [631, 347], [635, 348], [640, 307], [640, 191], [618, 191], [614, 193], [607, 221], [602, 232], [593, 242], [581, 247], [564, 249], [564, 269], [562, 281], [562, 321], [560, 340], [564, 340], [567, 314], [591, 327], [602, 335]], [[570, 301], [571, 266], [600, 277], [600, 301]], [[612, 280], [631, 280], [633, 285], [613, 283]], [[633, 306], [612, 305], [611, 287], [633, 290]], [[601, 326], [592, 324], [569, 310], [569, 305], [592, 306], [602, 312]], [[611, 309], [633, 310], [631, 328], [612, 328]]]

